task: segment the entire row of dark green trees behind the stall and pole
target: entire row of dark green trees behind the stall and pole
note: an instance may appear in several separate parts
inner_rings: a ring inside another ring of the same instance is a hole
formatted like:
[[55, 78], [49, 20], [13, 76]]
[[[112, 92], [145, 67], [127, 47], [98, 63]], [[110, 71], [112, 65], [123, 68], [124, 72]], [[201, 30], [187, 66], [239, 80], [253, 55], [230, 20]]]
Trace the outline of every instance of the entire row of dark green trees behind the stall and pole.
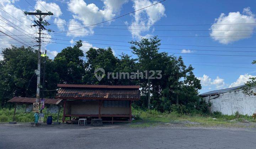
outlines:
[[[57, 83], [140, 85], [141, 99], [134, 106], [170, 111], [176, 105], [195, 109], [200, 106], [198, 90], [200, 81], [194, 76], [193, 67], [186, 66], [182, 57], [160, 53], [157, 37], [131, 41], [131, 49], [137, 58], [130, 55], [114, 55], [107, 49], [90, 48], [84, 53], [81, 40], [64, 48], [53, 60], [46, 57], [46, 90], [57, 89]], [[32, 48], [16, 47], [2, 50], [0, 61], [0, 104], [7, 106], [7, 100], [14, 96], [33, 97], [36, 94], [37, 52]], [[42, 62], [43, 65], [43, 62]], [[105, 75], [101, 81], [95, 77], [96, 68], [103, 68]], [[156, 71], [160, 72], [156, 72]], [[146, 72], [144, 72], [146, 71]], [[112, 72], [108, 78], [108, 72]], [[148, 78], [115, 79], [120, 72], [144, 73]], [[145, 74], [148, 73], [148, 74]], [[149, 76], [155, 79], [149, 79]], [[160, 79], [156, 77], [161, 76]], [[54, 98], [54, 91], [44, 93], [46, 98]]]

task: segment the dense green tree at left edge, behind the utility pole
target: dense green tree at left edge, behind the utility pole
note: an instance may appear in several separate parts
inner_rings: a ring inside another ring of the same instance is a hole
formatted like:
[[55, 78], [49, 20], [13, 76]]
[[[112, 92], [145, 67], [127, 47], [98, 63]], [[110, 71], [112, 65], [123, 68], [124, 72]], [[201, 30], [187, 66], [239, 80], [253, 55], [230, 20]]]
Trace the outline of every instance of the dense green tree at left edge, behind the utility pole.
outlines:
[[[36, 95], [38, 51], [32, 48], [16, 47], [2, 50], [3, 60], [0, 61], [0, 104], [6, 106], [6, 101], [14, 96], [34, 97]], [[54, 62], [47, 57], [46, 88], [56, 89], [58, 74]], [[43, 61], [41, 66], [43, 65]], [[43, 68], [43, 67], [41, 67]], [[53, 97], [54, 92], [45, 92], [46, 97]]]

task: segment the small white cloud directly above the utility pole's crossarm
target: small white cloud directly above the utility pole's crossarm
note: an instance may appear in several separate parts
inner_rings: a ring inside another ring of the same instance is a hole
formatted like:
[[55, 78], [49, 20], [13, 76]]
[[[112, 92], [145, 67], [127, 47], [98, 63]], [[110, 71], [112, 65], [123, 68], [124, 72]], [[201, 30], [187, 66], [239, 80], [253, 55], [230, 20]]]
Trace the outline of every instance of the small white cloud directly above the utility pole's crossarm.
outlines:
[[[39, 3], [40, 2], [40, 3]], [[42, 4], [42, 5], [40, 5]], [[57, 5], [56, 3], [54, 2], [50, 2], [50, 3], [46, 3], [46, 1], [42, 1], [42, 0], [39, 0], [39, 1], [36, 1], [36, 5], [34, 6], [36, 9], [39, 9], [41, 10], [42, 12], [46, 12], [47, 11], [50, 11], [53, 13], [53, 16], [54, 17], [59, 17], [60, 15], [62, 15], [62, 12], [60, 10], [60, 7], [59, 5]], [[45, 10], [45, 9], [46, 10]]]

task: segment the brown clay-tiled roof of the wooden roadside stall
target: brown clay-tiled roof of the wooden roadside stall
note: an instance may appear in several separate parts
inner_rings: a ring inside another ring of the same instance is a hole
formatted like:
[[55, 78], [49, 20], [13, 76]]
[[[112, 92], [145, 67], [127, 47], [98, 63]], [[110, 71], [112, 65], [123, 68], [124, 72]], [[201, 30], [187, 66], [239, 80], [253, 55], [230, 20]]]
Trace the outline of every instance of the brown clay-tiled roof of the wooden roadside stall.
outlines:
[[96, 88], [97, 85], [93, 85], [92, 88], [86, 87], [62, 87], [58, 90], [55, 98], [58, 99], [105, 99], [105, 100], [139, 100], [140, 91], [139, 87], [132, 88], [129, 86], [125, 88], [123, 85], [118, 88], [118, 85], [104, 85], [108, 87]]

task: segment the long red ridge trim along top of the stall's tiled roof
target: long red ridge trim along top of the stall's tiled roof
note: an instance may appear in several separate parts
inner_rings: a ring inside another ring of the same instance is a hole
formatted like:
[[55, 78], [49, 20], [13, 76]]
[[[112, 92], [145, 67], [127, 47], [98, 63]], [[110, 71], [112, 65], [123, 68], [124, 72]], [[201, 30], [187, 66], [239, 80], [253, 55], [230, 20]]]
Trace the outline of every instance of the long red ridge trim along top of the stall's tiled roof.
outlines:
[[76, 87], [76, 88], [136, 88], [139, 85], [82, 85], [82, 84], [57, 84], [57, 87]]

